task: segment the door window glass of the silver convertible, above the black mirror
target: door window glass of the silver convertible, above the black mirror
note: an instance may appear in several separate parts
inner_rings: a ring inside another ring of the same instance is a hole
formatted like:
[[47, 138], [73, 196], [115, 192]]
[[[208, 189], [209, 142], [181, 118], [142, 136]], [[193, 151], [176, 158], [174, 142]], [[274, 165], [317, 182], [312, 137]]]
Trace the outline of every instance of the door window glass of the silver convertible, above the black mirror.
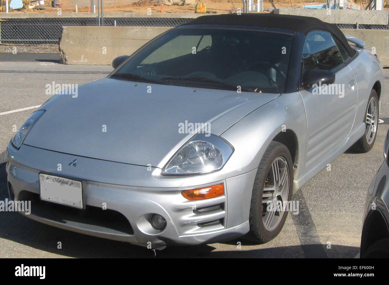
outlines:
[[305, 38], [302, 60], [307, 70], [331, 70], [343, 63], [342, 55], [330, 33], [312, 31]]

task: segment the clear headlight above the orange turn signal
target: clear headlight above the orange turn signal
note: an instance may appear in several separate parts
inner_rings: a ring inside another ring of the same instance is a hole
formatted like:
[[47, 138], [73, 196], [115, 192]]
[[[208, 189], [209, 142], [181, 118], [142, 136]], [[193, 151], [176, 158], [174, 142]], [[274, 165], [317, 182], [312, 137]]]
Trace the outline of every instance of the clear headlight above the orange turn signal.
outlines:
[[185, 175], [217, 171], [232, 153], [232, 146], [221, 137], [196, 134], [173, 156], [162, 174]]

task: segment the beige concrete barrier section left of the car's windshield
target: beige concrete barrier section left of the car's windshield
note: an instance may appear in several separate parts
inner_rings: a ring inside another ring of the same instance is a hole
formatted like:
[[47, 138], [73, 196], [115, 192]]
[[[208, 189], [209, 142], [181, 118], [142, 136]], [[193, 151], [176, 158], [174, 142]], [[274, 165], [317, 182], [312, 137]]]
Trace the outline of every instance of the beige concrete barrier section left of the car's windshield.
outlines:
[[[60, 60], [64, 64], [109, 65], [119, 55], [131, 55], [172, 27], [64, 26]], [[103, 51], [106, 50], [106, 53]]]

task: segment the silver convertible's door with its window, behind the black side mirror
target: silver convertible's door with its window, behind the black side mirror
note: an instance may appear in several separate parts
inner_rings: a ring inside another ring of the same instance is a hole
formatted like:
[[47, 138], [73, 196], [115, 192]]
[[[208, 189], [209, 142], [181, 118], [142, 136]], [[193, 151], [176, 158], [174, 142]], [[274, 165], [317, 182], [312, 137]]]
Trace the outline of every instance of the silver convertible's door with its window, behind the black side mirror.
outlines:
[[333, 84], [300, 88], [307, 115], [305, 170], [308, 171], [346, 141], [354, 123], [358, 96], [354, 74], [330, 33], [321, 30], [308, 33], [302, 61], [302, 74], [312, 69], [335, 72]]

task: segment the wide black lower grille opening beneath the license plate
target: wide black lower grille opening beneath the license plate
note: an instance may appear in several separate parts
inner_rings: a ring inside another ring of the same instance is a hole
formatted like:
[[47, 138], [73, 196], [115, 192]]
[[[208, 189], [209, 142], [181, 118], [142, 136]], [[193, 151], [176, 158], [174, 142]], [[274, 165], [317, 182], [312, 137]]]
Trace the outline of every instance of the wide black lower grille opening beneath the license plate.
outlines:
[[103, 210], [100, 207], [86, 206], [85, 209], [76, 209], [65, 205], [40, 200], [39, 194], [21, 191], [18, 200], [31, 201], [31, 214], [52, 220], [58, 223], [82, 223], [93, 227], [102, 227], [103, 231], [112, 234], [133, 235], [134, 231], [127, 218], [111, 209]]

